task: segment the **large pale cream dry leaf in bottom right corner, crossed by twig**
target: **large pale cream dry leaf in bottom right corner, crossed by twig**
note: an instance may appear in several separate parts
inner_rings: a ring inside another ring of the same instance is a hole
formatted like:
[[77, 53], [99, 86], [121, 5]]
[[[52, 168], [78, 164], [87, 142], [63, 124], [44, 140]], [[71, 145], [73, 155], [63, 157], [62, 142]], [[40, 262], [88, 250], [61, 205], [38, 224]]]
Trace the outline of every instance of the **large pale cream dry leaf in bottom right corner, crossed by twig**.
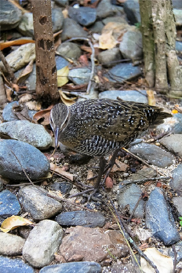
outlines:
[[[160, 253], [156, 248], [147, 248], [144, 254], [157, 266], [159, 273], [172, 273], [173, 260], [171, 257]], [[155, 273], [155, 270], [143, 258], [140, 258], [141, 268], [145, 273]]]

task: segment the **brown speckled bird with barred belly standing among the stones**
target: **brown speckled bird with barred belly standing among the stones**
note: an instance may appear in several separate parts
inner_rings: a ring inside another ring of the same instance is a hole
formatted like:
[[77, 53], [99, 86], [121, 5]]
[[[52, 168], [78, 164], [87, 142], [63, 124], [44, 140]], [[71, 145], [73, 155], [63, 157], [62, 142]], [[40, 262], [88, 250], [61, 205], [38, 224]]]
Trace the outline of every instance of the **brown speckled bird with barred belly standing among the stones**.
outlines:
[[[133, 142], [150, 127], [172, 115], [163, 108], [133, 101], [88, 99], [66, 106], [58, 103], [50, 112], [55, 148], [60, 141], [76, 152], [99, 158], [99, 172], [94, 183], [98, 190], [102, 175], [110, 174], [121, 147]], [[113, 153], [106, 167], [105, 157]]]

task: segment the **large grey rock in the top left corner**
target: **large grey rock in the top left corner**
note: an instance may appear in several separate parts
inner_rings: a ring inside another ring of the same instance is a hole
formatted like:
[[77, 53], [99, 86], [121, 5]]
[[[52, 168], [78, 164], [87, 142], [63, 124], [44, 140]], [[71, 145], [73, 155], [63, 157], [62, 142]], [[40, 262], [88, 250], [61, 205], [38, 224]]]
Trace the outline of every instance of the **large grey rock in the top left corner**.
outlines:
[[22, 11], [9, 1], [1, 1], [1, 31], [14, 29], [22, 18]]

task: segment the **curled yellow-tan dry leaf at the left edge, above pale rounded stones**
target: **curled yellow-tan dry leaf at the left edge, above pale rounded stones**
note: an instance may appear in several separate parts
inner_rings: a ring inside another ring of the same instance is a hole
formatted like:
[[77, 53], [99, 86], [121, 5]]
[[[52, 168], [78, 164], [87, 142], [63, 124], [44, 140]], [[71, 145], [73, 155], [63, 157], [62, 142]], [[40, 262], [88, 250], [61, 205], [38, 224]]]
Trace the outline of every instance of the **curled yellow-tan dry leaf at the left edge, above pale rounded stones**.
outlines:
[[2, 222], [0, 230], [7, 233], [8, 231], [15, 229], [16, 227], [25, 226], [25, 225], [34, 225], [34, 224], [25, 218], [12, 215], [11, 217], [6, 218], [5, 221]]

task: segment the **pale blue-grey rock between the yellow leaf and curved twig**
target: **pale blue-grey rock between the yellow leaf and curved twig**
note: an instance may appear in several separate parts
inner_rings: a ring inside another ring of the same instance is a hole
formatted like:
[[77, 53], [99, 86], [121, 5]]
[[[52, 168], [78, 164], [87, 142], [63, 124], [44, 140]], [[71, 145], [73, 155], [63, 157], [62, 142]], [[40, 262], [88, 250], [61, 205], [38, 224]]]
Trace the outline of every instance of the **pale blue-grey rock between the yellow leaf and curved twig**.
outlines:
[[75, 84], [85, 84], [89, 82], [91, 69], [74, 68], [69, 70], [68, 78]]

